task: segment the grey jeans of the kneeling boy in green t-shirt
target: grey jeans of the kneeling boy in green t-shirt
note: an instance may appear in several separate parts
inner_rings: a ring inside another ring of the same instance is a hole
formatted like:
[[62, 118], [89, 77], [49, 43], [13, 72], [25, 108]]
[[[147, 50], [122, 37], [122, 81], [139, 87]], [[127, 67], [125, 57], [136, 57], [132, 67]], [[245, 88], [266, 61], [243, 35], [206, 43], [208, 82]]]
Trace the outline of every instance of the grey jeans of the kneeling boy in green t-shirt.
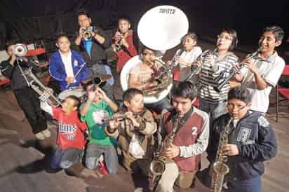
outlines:
[[116, 174], [119, 168], [119, 160], [113, 145], [88, 144], [86, 149], [86, 167], [90, 170], [98, 167], [98, 160], [102, 154], [105, 157], [107, 171]]

